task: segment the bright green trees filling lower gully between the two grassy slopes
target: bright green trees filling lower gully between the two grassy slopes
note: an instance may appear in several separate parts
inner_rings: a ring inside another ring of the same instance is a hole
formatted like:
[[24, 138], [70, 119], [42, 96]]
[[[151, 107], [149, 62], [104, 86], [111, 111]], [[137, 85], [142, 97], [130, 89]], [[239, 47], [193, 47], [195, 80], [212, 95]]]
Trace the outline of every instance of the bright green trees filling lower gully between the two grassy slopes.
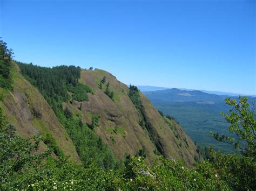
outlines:
[[[76, 151], [85, 166], [95, 163], [104, 169], [111, 169], [118, 165], [109, 147], [90, 129], [91, 126], [84, 124], [75, 115], [66, 117], [63, 112], [58, 112], [58, 118], [75, 144]], [[92, 126], [96, 128], [99, 116], [92, 115], [92, 119]]]

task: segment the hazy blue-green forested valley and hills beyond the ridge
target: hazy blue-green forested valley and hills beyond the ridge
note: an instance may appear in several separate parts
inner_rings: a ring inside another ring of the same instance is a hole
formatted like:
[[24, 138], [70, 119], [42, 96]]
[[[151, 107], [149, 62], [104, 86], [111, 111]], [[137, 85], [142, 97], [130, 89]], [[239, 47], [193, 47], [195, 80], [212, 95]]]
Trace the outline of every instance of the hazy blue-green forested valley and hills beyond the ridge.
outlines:
[[[141, 88], [142, 86], [138, 86]], [[147, 87], [146, 89], [149, 89]], [[141, 88], [145, 90], [145, 88]], [[157, 89], [153, 87], [152, 89]], [[143, 91], [154, 106], [165, 115], [171, 115], [183, 126], [188, 135], [199, 146], [213, 146], [224, 152], [233, 151], [230, 146], [219, 143], [210, 135], [210, 131], [228, 135], [228, 124], [220, 112], [228, 113], [231, 109], [225, 98], [238, 99], [237, 95], [216, 95], [199, 90], [181, 90], [177, 88]], [[256, 101], [256, 97], [248, 96], [248, 102]]]

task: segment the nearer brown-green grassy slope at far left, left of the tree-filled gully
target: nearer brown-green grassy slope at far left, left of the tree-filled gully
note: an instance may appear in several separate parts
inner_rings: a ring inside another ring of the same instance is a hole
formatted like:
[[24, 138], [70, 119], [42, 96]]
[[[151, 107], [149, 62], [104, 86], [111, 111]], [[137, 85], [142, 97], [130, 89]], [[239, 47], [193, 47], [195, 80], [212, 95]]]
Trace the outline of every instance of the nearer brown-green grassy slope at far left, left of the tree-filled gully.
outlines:
[[[3, 96], [0, 107], [3, 108], [8, 121], [16, 126], [18, 133], [23, 137], [41, 133], [43, 139], [53, 139], [64, 155], [70, 155], [70, 160], [79, 162], [80, 159], [72, 140], [59, 123], [50, 105], [39, 91], [19, 73], [17, 65], [13, 64], [14, 83], [12, 87], [14, 90], [11, 92], [0, 88], [0, 95]], [[45, 144], [42, 142], [40, 150], [44, 149]]]

